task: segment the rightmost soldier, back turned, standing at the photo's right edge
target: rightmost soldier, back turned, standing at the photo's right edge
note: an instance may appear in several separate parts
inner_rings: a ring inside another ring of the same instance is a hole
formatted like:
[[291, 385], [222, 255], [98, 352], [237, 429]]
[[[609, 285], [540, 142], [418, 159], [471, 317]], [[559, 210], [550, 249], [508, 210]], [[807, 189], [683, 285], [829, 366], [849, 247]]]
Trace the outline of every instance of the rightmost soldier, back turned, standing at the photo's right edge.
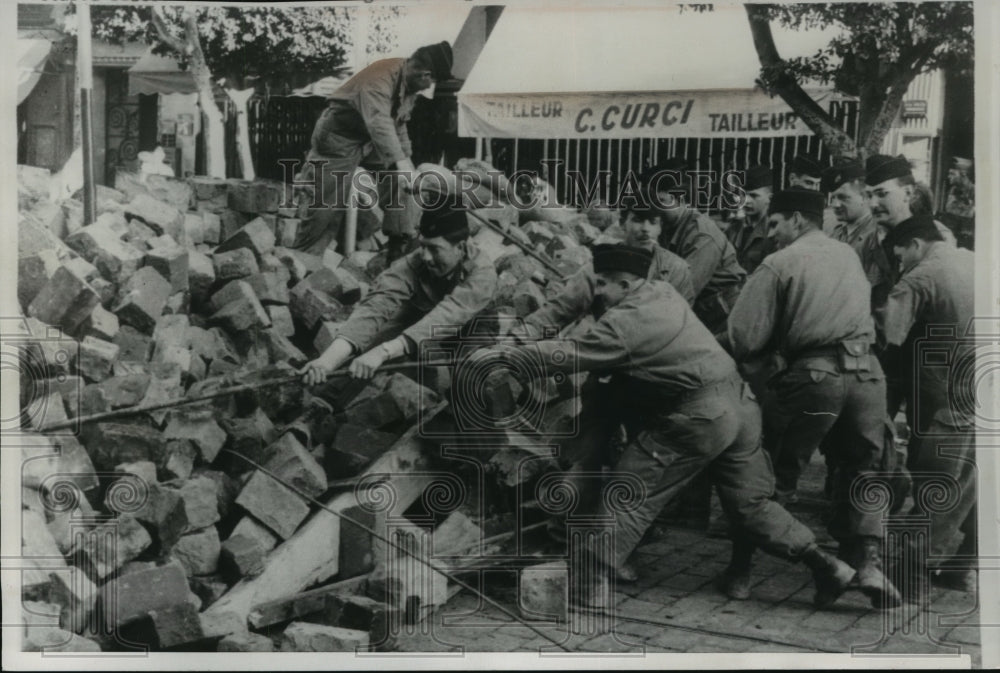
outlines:
[[[899, 223], [886, 237], [902, 260], [903, 275], [889, 293], [882, 329], [890, 349], [900, 349], [907, 362], [923, 362], [918, 352], [924, 340], [928, 350], [949, 351], [947, 367], [928, 364], [907, 370], [909, 403], [915, 408], [907, 467], [913, 473], [914, 509], [929, 516], [930, 558], [944, 559], [933, 569], [931, 579], [940, 586], [974, 590], [976, 549], [976, 460], [974, 400], [975, 341], [972, 327], [974, 300], [974, 254], [946, 245], [929, 215], [915, 215]], [[928, 328], [952, 334], [935, 340]], [[939, 355], [940, 357], [940, 355]], [[970, 365], [967, 376], [949, 376]], [[949, 378], [952, 379], [949, 385]], [[942, 478], [954, 486], [954, 506], [921, 512], [925, 488], [940, 486]], [[954, 556], [952, 537], [963, 534]], [[921, 569], [926, 559], [918, 559]], [[910, 585], [912, 583], [907, 583]]]

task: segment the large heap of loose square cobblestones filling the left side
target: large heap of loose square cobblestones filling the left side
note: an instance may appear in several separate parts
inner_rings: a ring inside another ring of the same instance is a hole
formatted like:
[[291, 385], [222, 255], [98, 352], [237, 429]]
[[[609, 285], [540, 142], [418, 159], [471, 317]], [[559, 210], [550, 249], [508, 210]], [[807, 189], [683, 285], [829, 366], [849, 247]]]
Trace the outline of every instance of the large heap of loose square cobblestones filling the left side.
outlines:
[[[21, 525], [33, 564], [24, 572], [25, 649], [391, 648], [392, 620], [424, 618], [454, 588], [433, 573], [443, 583], [413, 583], [405, 563], [349, 525], [317, 539], [309, 527], [335, 518], [320, 521], [317, 507], [266, 472], [323, 502], [356, 505], [351, 489], [373, 465], [402, 456], [396, 469], [419, 467], [406, 458], [427, 452], [412, 426], [442, 406], [447, 376], [429, 388], [416, 368], [368, 385], [335, 378], [315, 391], [293, 381], [32, 431], [294, 374], [370, 291], [384, 253], [321, 258], [291, 249], [299, 219], [279, 183], [120, 175], [115, 189], [98, 189], [97, 220], [84, 226], [80, 199], [49, 200], [46, 173], [18, 170]], [[587, 261], [583, 244], [600, 235], [581, 213], [523, 225], [510, 205], [479, 214], [564, 273]], [[524, 316], [555, 291], [541, 263], [470, 223], [500, 274], [493, 309]], [[531, 394], [549, 403], [543, 425], [572, 418], [571, 388], [539, 390]], [[505, 380], [487, 397], [509, 406], [523, 394]], [[506, 441], [489, 470], [509, 501], [552, 463], [525, 470], [526, 456], [539, 458], [527, 455], [531, 441]], [[422, 492], [411, 491], [396, 503], [400, 513]], [[375, 523], [364, 508], [343, 509]], [[436, 534], [434, 553], [459, 551], [478, 542], [480, 516], [454, 511], [421, 520], [414, 533]], [[313, 553], [330, 550], [332, 562], [297, 570], [283, 561], [317, 546]], [[206, 617], [241, 591], [249, 596], [236, 611], [242, 623], [219, 627]]]

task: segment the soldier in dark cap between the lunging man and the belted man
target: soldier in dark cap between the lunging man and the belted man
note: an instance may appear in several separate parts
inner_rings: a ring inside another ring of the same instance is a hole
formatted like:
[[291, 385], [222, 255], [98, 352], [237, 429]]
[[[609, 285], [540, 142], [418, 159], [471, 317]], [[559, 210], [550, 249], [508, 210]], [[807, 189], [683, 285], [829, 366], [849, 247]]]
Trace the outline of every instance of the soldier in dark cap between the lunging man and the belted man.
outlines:
[[[726, 328], [726, 317], [739, 295], [746, 272], [736, 251], [707, 215], [689, 204], [691, 181], [678, 171], [660, 168], [641, 178], [642, 201], [660, 211], [663, 232], [659, 243], [679, 255], [691, 269], [694, 312], [713, 334]], [[679, 184], [678, 184], [679, 183]]]

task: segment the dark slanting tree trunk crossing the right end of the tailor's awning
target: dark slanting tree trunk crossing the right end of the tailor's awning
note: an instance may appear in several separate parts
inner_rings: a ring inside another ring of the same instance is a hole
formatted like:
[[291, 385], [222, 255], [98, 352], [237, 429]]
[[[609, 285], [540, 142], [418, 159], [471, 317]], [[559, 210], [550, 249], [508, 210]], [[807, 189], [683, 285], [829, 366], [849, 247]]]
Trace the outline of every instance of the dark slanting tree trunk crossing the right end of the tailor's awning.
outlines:
[[750, 34], [761, 68], [769, 73], [764, 85], [776, 92], [790, 108], [819, 136], [834, 158], [854, 158], [858, 148], [849, 135], [844, 133], [826, 110], [809, 97], [795, 78], [782, 72], [784, 61], [778, 55], [771, 33], [771, 21], [765, 5], [746, 5]]

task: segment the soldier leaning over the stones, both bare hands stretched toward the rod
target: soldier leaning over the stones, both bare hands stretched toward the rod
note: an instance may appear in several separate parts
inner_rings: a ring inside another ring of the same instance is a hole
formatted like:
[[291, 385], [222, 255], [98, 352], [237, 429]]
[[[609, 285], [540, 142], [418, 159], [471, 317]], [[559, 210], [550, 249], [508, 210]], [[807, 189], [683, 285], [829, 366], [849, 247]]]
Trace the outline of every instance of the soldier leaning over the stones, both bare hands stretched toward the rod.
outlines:
[[464, 325], [493, 299], [493, 263], [469, 240], [464, 210], [424, 211], [420, 248], [396, 260], [351, 313], [333, 343], [303, 369], [315, 385], [349, 358], [351, 374], [371, 378], [386, 360], [414, 355], [435, 327]]

